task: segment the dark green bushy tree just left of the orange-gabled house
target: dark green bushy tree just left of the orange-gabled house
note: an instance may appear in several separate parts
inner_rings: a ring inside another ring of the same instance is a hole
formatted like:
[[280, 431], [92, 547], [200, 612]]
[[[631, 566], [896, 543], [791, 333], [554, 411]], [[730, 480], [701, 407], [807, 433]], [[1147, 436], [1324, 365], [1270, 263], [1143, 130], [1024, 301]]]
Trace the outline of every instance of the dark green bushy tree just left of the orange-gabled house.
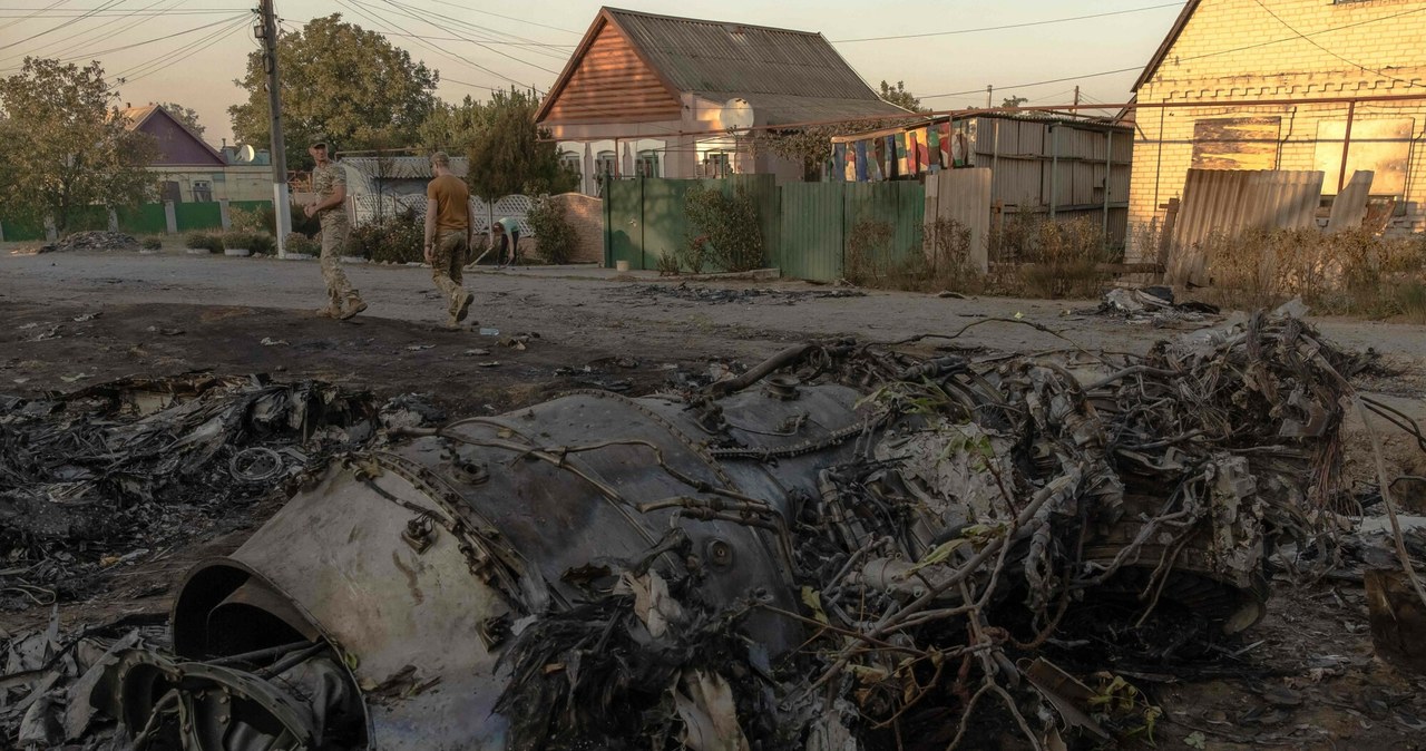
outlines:
[[485, 127], [468, 151], [471, 192], [496, 201], [516, 192], [540, 195], [578, 187], [578, 178], [559, 164], [549, 131], [535, 125], [539, 97], [533, 91], [496, 91], [483, 108], [475, 121], [483, 120]]

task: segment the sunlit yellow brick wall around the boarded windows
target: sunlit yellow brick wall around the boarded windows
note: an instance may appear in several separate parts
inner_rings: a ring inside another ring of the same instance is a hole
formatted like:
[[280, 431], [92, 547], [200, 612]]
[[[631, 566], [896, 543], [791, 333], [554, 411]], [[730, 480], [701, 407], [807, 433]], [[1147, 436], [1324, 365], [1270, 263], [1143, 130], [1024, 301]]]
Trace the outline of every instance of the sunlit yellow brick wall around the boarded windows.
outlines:
[[[1162, 222], [1158, 207], [1182, 197], [1196, 120], [1279, 117], [1276, 167], [1313, 170], [1319, 123], [1345, 123], [1348, 114], [1345, 104], [1215, 107], [1215, 101], [1426, 93], [1426, 1], [1262, 0], [1262, 6], [1255, 0], [1202, 0], [1154, 77], [1139, 88], [1141, 103], [1195, 101], [1204, 107], [1137, 113], [1131, 259], [1151, 258], [1137, 242], [1141, 229], [1155, 219]], [[1353, 131], [1362, 123], [1390, 118], [1413, 121], [1406, 208], [1393, 227], [1420, 231], [1426, 228], [1426, 101], [1358, 104]], [[1326, 175], [1323, 192], [1335, 194], [1336, 182], [1338, 175]]]

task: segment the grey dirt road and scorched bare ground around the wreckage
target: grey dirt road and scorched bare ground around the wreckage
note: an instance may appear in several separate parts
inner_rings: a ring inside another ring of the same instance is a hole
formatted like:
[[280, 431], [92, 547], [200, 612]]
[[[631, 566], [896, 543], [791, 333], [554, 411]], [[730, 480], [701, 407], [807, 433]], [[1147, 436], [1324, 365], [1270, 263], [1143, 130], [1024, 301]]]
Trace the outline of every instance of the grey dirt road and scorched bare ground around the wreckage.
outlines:
[[[649, 392], [674, 386], [670, 378], [680, 372], [747, 363], [831, 335], [894, 341], [971, 326], [954, 346], [990, 355], [1067, 346], [1141, 352], [1175, 333], [1087, 314], [1092, 301], [941, 299], [800, 282], [679, 289], [588, 268], [471, 274], [479, 323], [452, 332], [439, 326], [443, 305], [426, 269], [349, 265], [348, 272], [371, 309], [335, 322], [312, 315], [322, 302], [314, 262], [171, 252], [0, 255], [0, 393], [34, 396], [125, 375], [211, 369], [318, 378], [386, 396], [429, 392], [452, 413], [469, 415], [572, 388]], [[1380, 352], [1392, 375], [1366, 386], [1426, 416], [1426, 328], [1315, 323], [1345, 348]], [[539, 336], [523, 349], [501, 345], [518, 333]], [[1359, 426], [1349, 435], [1360, 452]], [[1400, 437], [1390, 439], [1389, 452], [1397, 472], [1422, 466], [1420, 452]], [[111, 601], [70, 606], [67, 620], [161, 611], [173, 591], [161, 581], [240, 544], [247, 532], [214, 530], [204, 544], [137, 570]], [[1216, 673], [1141, 678], [1156, 687], [1154, 698], [1166, 713], [1159, 747], [1420, 747], [1426, 685], [1373, 660], [1359, 586], [1283, 586], [1269, 608], [1249, 641], [1258, 643]], [[47, 617], [31, 610], [0, 618], [16, 628]]]

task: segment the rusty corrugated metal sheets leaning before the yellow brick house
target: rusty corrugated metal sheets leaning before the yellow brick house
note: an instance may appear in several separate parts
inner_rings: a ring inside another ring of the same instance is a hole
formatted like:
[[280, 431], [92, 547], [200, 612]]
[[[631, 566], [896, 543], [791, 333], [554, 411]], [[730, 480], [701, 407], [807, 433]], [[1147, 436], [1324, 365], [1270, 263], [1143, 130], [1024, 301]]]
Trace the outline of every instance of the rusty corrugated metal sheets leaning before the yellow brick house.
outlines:
[[1204, 242], [1215, 235], [1313, 227], [1322, 180], [1320, 171], [1189, 170], [1166, 264], [1169, 282], [1209, 282]]

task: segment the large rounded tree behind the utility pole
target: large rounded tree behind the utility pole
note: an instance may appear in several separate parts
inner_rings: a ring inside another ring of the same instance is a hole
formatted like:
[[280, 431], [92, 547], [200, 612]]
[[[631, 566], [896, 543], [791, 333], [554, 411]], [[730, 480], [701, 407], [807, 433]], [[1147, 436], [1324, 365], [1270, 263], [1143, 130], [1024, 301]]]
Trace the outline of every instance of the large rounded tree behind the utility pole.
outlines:
[[[344, 151], [418, 145], [419, 127], [436, 105], [436, 71], [412, 63], [386, 37], [341, 19], [339, 13], [312, 19], [278, 40], [288, 167], [311, 167], [307, 143], [317, 134], [329, 135]], [[248, 54], [247, 76], [234, 84], [248, 91], [248, 101], [228, 107], [232, 134], [248, 144], [268, 143], [261, 51]]]

